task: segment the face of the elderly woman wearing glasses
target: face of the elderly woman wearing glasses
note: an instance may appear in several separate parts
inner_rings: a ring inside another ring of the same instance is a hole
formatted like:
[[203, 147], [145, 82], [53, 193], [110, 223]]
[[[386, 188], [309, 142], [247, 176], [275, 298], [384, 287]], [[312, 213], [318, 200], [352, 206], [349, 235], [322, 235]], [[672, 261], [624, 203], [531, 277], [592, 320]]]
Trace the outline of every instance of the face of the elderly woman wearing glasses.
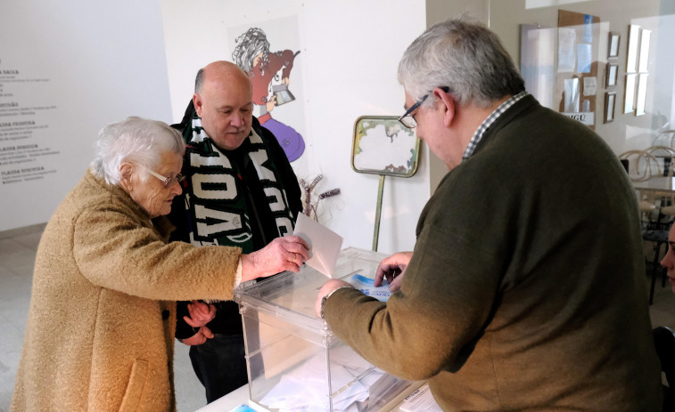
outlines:
[[175, 178], [183, 166], [183, 158], [172, 151], [165, 151], [161, 154], [160, 162], [152, 169], [156, 174], [172, 178], [169, 186], [164, 186], [164, 182], [150, 174], [144, 166], [132, 165], [133, 174], [127, 190], [129, 196], [138, 206], [143, 207], [151, 218], [169, 214], [173, 198], [182, 191], [180, 183]]

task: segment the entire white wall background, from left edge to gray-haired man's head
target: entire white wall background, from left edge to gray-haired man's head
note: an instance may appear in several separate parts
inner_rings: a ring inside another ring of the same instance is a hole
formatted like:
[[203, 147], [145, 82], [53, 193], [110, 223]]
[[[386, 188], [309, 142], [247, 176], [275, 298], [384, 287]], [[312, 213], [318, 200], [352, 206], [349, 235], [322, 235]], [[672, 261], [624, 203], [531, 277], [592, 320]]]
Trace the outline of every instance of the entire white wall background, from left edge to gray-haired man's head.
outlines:
[[[58, 153], [45, 160], [54, 173], [0, 185], [0, 230], [49, 219], [84, 174], [103, 125], [131, 115], [180, 119], [197, 69], [230, 58], [228, 28], [291, 16], [301, 50], [301, 70], [293, 70], [301, 77], [292, 81], [302, 85], [299, 129], [307, 143], [302, 161], [293, 166], [306, 180], [324, 174], [317, 190], [342, 190], [319, 205], [320, 221], [345, 238], [344, 246], [370, 248], [378, 176], [351, 170], [354, 121], [401, 113], [396, 69], [407, 45], [424, 31], [424, 1], [266, 3], [5, 0], [0, 69], [49, 79], [44, 87], [14, 90], [22, 104], [55, 107], [40, 118], [48, 131], [36, 132], [34, 139]], [[15, 86], [3, 87], [6, 92]], [[417, 217], [428, 198], [423, 144], [416, 176], [385, 180], [379, 250], [413, 247]]]

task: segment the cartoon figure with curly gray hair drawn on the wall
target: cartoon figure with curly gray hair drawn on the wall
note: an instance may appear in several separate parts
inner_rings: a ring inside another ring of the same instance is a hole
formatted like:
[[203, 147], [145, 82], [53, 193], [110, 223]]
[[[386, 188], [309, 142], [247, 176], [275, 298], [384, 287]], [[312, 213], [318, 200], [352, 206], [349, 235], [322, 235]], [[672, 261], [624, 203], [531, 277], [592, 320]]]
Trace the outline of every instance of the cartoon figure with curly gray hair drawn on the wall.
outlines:
[[293, 61], [300, 51], [271, 53], [268, 38], [260, 28], [249, 28], [235, 43], [232, 59], [251, 77], [260, 124], [275, 134], [290, 162], [297, 160], [305, 151], [305, 141], [292, 126], [272, 117], [272, 110], [295, 100], [288, 85]]

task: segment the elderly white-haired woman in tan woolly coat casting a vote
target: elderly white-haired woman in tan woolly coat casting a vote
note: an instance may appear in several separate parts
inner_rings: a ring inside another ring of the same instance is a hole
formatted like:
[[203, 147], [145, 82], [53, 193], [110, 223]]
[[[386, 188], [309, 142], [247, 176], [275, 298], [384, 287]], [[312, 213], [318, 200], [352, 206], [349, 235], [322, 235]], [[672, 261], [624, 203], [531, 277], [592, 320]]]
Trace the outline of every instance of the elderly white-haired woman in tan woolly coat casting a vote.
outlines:
[[177, 300], [232, 299], [298, 271], [298, 237], [252, 254], [167, 243], [185, 143], [161, 122], [103, 128], [94, 162], [47, 223], [11, 410], [175, 410]]

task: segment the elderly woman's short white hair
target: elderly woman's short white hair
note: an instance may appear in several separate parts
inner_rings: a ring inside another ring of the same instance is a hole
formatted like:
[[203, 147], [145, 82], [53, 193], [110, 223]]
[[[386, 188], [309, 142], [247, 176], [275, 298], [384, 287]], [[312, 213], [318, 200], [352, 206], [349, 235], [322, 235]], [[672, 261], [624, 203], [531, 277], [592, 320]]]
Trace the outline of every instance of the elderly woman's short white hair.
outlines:
[[160, 163], [162, 153], [169, 150], [180, 156], [185, 152], [185, 141], [176, 129], [157, 120], [127, 117], [98, 133], [91, 171], [105, 182], [119, 185], [123, 162], [136, 162], [152, 170]]

